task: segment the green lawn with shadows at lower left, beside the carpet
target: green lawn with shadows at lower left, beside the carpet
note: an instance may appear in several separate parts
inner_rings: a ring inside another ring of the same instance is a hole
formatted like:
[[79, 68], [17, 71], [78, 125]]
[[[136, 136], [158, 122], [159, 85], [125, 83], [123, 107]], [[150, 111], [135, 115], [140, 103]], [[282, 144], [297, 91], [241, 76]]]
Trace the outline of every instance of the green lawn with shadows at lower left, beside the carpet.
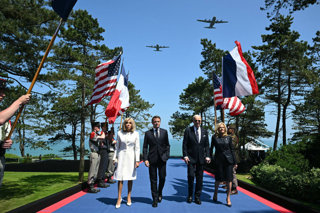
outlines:
[[[84, 173], [84, 181], [87, 178]], [[78, 173], [4, 172], [0, 189], [0, 213], [73, 187]]]

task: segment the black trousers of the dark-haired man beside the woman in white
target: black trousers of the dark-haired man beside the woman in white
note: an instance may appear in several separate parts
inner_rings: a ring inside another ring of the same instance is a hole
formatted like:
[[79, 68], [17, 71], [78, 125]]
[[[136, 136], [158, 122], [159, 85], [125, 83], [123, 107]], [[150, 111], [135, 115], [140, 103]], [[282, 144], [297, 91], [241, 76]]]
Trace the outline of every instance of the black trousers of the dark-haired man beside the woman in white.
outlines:
[[[159, 186], [157, 186], [157, 176], [159, 176]], [[149, 177], [152, 199], [157, 200], [158, 195], [162, 196], [162, 189], [166, 177], [166, 162], [158, 158], [156, 163], [149, 164]]]

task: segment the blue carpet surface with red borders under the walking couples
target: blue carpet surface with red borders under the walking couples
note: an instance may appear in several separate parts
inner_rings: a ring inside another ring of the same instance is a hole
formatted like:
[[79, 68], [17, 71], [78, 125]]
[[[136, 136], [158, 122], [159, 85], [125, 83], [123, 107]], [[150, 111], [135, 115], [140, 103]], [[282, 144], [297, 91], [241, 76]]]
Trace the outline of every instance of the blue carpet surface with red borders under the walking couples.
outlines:
[[[55, 213], [277, 213], [278, 211], [260, 203], [259, 201], [238, 191], [238, 195], [230, 197], [232, 207], [226, 206], [225, 190], [220, 186], [218, 190], [218, 201], [212, 202], [214, 190], [214, 178], [203, 175], [203, 189], [201, 194], [202, 205], [194, 203], [187, 204], [187, 181], [186, 164], [177, 158], [169, 159], [166, 166], [166, 181], [162, 192], [163, 200], [157, 208], [152, 208], [152, 197], [148, 168], [143, 163], [137, 169], [137, 180], [133, 181], [131, 192], [132, 205], [126, 206], [127, 181], [124, 181], [122, 189], [122, 203], [119, 209], [114, 205], [117, 198], [117, 183], [111, 184], [106, 189], [101, 189], [97, 194], [85, 194], [73, 202], [61, 207]], [[193, 198], [194, 199], [194, 198]], [[42, 211], [43, 212], [43, 211]], [[280, 211], [285, 213], [286, 211]], [[44, 212], [43, 212], [44, 213]]]

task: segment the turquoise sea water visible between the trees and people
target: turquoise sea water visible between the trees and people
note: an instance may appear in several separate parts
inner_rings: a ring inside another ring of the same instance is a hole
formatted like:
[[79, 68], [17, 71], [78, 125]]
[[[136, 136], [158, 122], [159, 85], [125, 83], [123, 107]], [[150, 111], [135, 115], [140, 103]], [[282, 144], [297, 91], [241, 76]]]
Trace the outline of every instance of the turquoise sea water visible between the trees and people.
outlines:
[[[262, 143], [264, 143], [265, 145], [269, 146], [269, 147], [273, 147], [273, 139], [261, 139], [259, 140]], [[170, 143], [170, 156], [182, 156], [182, 139], [181, 140], [176, 140], [176, 139], [169, 139], [169, 143]], [[210, 141], [211, 143], [211, 141]], [[278, 141], [278, 147], [280, 146], [282, 142]], [[78, 144], [80, 144], [80, 141], [78, 141]], [[143, 136], [140, 135], [140, 153], [142, 153], [142, 145], [143, 145]], [[64, 155], [63, 153], [59, 152], [59, 150], [61, 150], [62, 148], [68, 146], [68, 143], [65, 141], [64, 143], [62, 142], [61, 144], [57, 144], [55, 146], [52, 146], [51, 149], [52, 150], [42, 150], [42, 149], [30, 149], [28, 147], [25, 148], [24, 151], [24, 155], [26, 155], [27, 153], [31, 156], [34, 157], [38, 157], [39, 155], [45, 155], [45, 154], [55, 154], [58, 155], [59, 157], [62, 157], [63, 159], [66, 160], [73, 160], [73, 156], [72, 154], [68, 154], [68, 155]], [[89, 149], [89, 145], [88, 145], [88, 139], [85, 139], [84, 142], [84, 148], [85, 149]], [[14, 143], [13, 141], [13, 145], [12, 148], [10, 150], [7, 150], [6, 153], [11, 153], [17, 156], [21, 156], [20, 154], [20, 150], [19, 150], [19, 145], [18, 143]], [[79, 157], [78, 157], [79, 159]]]

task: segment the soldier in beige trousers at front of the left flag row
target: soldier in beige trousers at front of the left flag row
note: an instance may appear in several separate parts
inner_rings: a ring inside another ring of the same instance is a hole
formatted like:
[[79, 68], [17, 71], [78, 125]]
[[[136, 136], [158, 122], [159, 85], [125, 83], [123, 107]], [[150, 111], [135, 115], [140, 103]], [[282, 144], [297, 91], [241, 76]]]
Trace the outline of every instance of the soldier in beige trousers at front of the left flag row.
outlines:
[[100, 132], [100, 123], [99, 122], [92, 122], [91, 127], [93, 132], [90, 134], [89, 138], [89, 148], [91, 150], [90, 153], [90, 169], [88, 173], [88, 189], [87, 193], [97, 193], [100, 192], [99, 189], [95, 189], [93, 184], [96, 180], [99, 163], [100, 163], [100, 146], [102, 144], [102, 140], [104, 139], [105, 135], [104, 132]]

